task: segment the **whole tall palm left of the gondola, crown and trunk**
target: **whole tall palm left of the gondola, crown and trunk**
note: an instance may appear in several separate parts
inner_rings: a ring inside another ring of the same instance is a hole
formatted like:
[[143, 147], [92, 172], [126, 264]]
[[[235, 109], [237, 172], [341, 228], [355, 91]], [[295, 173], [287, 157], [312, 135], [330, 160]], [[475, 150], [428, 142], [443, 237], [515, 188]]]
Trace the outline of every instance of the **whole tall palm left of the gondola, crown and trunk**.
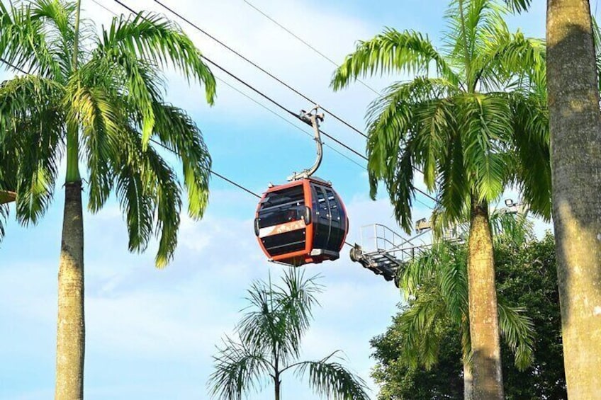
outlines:
[[[129, 250], [158, 239], [156, 264], [177, 244], [181, 184], [154, 143], [181, 161], [188, 211], [201, 218], [210, 157], [189, 115], [166, 103], [161, 69], [174, 67], [205, 86], [215, 80], [201, 52], [173, 23], [152, 13], [113, 18], [96, 35], [79, 2], [0, 4], [0, 57], [29, 74], [0, 85], [0, 189], [16, 193], [16, 219], [35, 224], [50, 206], [60, 173], [64, 222], [58, 274], [57, 399], [81, 399], [84, 376], [84, 224], [115, 193]], [[62, 162], [66, 168], [60, 171]], [[4, 215], [6, 205], [0, 205]]]

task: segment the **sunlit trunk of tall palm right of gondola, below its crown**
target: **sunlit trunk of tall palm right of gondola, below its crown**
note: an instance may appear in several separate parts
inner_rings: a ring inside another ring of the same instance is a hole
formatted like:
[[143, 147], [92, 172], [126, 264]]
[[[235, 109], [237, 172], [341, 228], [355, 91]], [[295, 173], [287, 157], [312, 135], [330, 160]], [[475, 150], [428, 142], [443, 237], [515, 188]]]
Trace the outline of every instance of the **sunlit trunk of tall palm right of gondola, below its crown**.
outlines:
[[502, 400], [493, 235], [488, 221], [488, 203], [478, 202], [473, 196], [468, 244], [468, 289], [473, 398]]

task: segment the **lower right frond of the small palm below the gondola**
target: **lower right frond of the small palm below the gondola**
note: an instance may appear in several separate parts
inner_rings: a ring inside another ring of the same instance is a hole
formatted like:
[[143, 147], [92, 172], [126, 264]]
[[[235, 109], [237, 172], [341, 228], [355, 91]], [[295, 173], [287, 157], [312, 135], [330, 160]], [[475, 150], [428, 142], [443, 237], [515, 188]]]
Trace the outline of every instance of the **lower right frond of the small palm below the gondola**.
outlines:
[[332, 355], [319, 361], [299, 362], [296, 374], [309, 375], [309, 384], [318, 396], [334, 400], [366, 400], [366, 383], [338, 362], [328, 361]]

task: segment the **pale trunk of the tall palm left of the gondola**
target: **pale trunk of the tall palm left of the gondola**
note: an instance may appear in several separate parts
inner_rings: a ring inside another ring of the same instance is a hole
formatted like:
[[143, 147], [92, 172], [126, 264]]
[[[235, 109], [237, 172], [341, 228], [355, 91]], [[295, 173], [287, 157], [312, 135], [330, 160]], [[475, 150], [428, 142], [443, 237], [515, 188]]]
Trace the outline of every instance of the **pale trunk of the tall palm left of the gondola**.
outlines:
[[65, 183], [58, 272], [55, 399], [84, 397], [84, 223], [82, 181]]

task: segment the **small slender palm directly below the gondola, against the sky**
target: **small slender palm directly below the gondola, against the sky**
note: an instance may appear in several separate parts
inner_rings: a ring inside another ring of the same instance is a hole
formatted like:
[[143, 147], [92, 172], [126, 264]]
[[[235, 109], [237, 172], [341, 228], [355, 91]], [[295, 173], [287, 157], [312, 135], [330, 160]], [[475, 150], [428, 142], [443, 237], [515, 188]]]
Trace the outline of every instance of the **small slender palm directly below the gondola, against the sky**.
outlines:
[[300, 341], [309, 328], [315, 295], [322, 291], [317, 277], [305, 278], [290, 268], [282, 285], [254, 282], [248, 290], [249, 306], [236, 326], [237, 340], [226, 337], [225, 347], [213, 357], [215, 372], [209, 385], [213, 398], [242, 399], [265, 380], [274, 384], [274, 399], [281, 396], [281, 375], [309, 375], [314, 392], [328, 399], [369, 399], [364, 381], [332, 358], [338, 350], [317, 361], [300, 361]]

